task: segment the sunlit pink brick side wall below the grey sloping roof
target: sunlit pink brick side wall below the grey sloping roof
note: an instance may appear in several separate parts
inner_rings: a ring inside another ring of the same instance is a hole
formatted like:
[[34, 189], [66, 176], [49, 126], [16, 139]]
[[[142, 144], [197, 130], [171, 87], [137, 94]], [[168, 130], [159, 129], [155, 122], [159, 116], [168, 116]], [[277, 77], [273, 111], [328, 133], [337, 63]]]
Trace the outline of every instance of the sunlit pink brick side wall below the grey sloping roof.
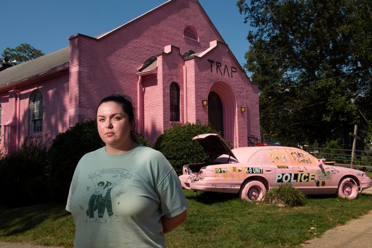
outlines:
[[[54, 139], [58, 133], [64, 132], [68, 128], [68, 75], [61, 75], [56, 78], [49, 80], [39, 81], [37, 83], [30, 84], [28, 86], [20, 87], [18, 90], [21, 92], [20, 95], [20, 125], [19, 125], [19, 144], [21, 145], [26, 137], [31, 136], [33, 138], [40, 139], [42, 135], [48, 134], [48, 137]], [[39, 90], [43, 96], [43, 132], [42, 133], [31, 133], [31, 115], [30, 115], [30, 102], [32, 94], [35, 90]], [[1, 98], [7, 98], [8, 101], [1, 101], [1, 107], [3, 110], [2, 124], [10, 122], [15, 119], [16, 113], [16, 97], [15, 92], [5, 92], [1, 94]], [[4, 137], [5, 144], [8, 145], [8, 151], [15, 150], [15, 132], [16, 122], [12, 123], [12, 126], [5, 126], [5, 132], [11, 132], [12, 136]], [[7, 131], [11, 129], [11, 131]], [[10, 135], [10, 133], [9, 133]], [[6, 145], [5, 145], [6, 146]]]

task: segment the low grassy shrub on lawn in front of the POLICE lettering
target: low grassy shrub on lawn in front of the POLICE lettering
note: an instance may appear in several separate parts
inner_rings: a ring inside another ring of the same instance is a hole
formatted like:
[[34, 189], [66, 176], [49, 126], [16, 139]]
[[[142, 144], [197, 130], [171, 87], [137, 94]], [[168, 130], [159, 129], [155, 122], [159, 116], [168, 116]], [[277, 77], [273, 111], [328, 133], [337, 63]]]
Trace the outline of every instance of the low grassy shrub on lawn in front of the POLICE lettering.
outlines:
[[275, 205], [302, 206], [305, 203], [305, 199], [304, 193], [289, 183], [273, 187], [265, 194], [265, 202]]

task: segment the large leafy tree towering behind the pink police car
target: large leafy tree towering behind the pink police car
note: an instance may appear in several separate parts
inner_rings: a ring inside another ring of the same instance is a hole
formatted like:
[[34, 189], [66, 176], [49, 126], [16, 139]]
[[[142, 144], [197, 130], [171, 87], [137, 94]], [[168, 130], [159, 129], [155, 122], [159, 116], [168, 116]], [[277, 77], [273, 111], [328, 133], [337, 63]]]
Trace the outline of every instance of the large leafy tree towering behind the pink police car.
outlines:
[[[372, 3], [369, 0], [237, 2], [259, 84], [262, 132], [295, 143], [346, 138], [371, 122]], [[343, 138], [344, 138], [343, 137]]]

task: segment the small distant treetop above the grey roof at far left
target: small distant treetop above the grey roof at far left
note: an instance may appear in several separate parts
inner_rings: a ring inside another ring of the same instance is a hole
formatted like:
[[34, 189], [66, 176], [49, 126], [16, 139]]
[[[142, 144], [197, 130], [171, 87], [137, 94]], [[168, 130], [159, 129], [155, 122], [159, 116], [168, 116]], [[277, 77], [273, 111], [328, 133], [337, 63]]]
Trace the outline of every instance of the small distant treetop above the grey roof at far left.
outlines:
[[38, 50], [27, 43], [22, 43], [19, 46], [16, 46], [16, 48], [7, 47], [1, 54], [3, 58], [10, 58], [10, 61], [15, 59], [17, 64], [41, 57], [42, 55], [44, 55], [44, 53], [41, 50]]

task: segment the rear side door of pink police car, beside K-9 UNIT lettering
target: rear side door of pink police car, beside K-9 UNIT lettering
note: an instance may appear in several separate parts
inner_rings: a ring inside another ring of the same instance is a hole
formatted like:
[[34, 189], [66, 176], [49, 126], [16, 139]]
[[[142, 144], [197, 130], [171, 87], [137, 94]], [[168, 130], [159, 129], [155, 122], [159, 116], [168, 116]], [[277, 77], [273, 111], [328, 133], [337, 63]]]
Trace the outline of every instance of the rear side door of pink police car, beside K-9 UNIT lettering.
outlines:
[[264, 150], [264, 174], [269, 178], [272, 187], [290, 183], [296, 186], [295, 167], [289, 160], [284, 148], [270, 147]]

